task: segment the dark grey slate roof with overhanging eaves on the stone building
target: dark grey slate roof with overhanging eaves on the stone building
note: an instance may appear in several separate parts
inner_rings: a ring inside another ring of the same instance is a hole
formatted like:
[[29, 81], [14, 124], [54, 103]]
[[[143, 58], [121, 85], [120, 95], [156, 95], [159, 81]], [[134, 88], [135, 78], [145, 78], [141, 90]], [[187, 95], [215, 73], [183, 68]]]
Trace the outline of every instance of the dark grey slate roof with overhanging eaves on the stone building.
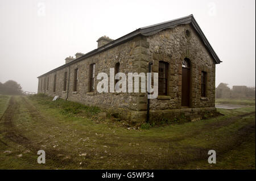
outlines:
[[113, 47], [115, 47], [119, 44], [125, 43], [126, 41], [129, 41], [129, 40], [133, 39], [135, 36], [139, 36], [139, 35], [150, 36], [150, 35], [154, 35], [155, 33], [160, 32], [160, 31], [163, 31], [167, 28], [174, 28], [177, 25], [189, 24], [189, 23], [191, 23], [193, 28], [195, 28], [195, 30], [198, 33], [200, 39], [203, 41], [205, 47], [208, 49], [209, 53], [212, 55], [215, 63], [220, 64], [220, 62], [222, 62], [222, 61], [220, 61], [217, 54], [214, 52], [212, 46], [210, 45], [209, 41], [205, 37], [203, 31], [199, 27], [199, 24], [197, 24], [194, 16], [191, 14], [191, 15], [185, 16], [183, 18], [178, 18], [178, 19], [170, 20], [168, 22], [158, 23], [158, 24], [154, 24], [154, 25], [151, 25], [151, 26], [139, 28], [139, 29], [137, 29], [133, 32], [128, 33], [125, 36], [119, 37], [118, 39], [113, 40], [110, 43], [103, 45], [100, 48], [94, 49], [94, 50], [84, 54], [83, 56], [81, 56], [79, 58], [76, 58], [75, 60], [69, 62], [68, 64], [64, 64], [62, 66], [59, 66], [56, 69], [48, 71], [46, 74], [40, 75], [38, 78], [43, 77], [44, 75], [47, 75], [49, 73], [52, 73], [53, 71], [60, 70], [60, 69], [63, 69], [65, 67], [69, 66], [69, 65], [75, 64], [76, 62], [79, 62], [79, 61], [83, 60], [84, 58], [93, 56], [94, 54], [98, 54], [98, 53], [103, 52], [107, 49], [113, 48]]

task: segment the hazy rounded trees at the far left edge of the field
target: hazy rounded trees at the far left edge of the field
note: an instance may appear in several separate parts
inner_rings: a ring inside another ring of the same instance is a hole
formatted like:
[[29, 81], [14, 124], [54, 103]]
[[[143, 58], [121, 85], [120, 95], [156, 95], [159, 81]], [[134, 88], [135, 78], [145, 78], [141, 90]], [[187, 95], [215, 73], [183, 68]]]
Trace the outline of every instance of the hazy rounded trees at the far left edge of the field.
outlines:
[[3, 95], [21, 95], [23, 94], [22, 87], [19, 83], [9, 80], [5, 83], [0, 82], [0, 94]]

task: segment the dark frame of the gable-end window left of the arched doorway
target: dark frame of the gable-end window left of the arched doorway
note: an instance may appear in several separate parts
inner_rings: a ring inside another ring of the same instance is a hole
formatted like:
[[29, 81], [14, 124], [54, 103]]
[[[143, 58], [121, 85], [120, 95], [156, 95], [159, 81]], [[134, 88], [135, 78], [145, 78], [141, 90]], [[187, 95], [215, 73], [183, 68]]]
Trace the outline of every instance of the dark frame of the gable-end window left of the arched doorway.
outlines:
[[[164, 65], [165, 67], [165, 76], [164, 77], [160, 77], [160, 65]], [[169, 64], [168, 62], [165, 61], [159, 61], [158, 63], [158, 95], [167, 95], [168, 94], [168, 67]], [[162, 79], [163, 81], [160, 81], [160, 79]], [[162, 90], [160, 90], [160, 82], [163, 82], [162, 85]], [[165, 84], [165, 87], [164, 87]]]

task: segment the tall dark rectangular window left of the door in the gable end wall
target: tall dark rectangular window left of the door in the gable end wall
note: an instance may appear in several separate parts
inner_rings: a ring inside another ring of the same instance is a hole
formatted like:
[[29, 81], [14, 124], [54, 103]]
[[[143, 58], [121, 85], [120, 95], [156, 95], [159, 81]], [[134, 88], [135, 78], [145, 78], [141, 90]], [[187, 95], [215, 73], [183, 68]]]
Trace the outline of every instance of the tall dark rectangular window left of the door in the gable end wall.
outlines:
[[158, 94], [167, 95], [168, 63], [159, 61], [158, 69]]

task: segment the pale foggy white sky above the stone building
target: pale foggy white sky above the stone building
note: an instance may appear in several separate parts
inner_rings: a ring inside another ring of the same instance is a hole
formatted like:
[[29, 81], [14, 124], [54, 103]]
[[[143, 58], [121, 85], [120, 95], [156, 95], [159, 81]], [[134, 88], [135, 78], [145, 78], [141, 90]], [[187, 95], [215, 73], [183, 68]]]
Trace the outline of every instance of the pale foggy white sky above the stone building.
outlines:
[[117, 39], [190, 14], [223, 61], [216, 86], [255, 86], [255, 0], [0, 0], [0, 82], [37, 92], [36, 77], [96, 49], [99, 37]]

